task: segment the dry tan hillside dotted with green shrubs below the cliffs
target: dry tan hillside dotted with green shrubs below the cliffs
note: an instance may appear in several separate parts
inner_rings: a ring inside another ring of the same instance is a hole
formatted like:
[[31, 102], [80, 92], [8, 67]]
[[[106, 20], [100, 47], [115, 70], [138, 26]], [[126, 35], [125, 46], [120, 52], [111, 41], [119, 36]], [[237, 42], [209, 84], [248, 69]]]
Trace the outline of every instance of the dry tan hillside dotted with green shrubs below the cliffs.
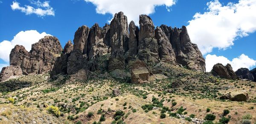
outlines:
[[[156, 80], [136, 85], [108, 72], [90, 73], [84, 82], [70, 76], [52, 80], [49, 74], [0, 82], [0, 123], [196, 124], [197, 118], [204, 124], [256, 124], [256, 82], [168, 64], [160, 68], [163, 73]], [[219, 99], [240, 90], [247, 91], [247, 102]]]

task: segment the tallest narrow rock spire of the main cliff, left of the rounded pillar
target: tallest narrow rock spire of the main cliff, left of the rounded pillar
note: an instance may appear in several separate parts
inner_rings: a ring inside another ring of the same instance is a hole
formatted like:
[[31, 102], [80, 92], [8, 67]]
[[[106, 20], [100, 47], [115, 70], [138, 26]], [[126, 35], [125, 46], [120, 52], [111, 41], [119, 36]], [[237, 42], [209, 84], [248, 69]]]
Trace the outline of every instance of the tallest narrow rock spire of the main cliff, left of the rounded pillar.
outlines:
[[109, 36], [111, 39], [111, 59], [109, 60], [108, 69], [124, 69], [124, 53], [128, 51], [129, 33], [127, 17], [123, 14], [123, 12], [115, 14], [110, 23]]

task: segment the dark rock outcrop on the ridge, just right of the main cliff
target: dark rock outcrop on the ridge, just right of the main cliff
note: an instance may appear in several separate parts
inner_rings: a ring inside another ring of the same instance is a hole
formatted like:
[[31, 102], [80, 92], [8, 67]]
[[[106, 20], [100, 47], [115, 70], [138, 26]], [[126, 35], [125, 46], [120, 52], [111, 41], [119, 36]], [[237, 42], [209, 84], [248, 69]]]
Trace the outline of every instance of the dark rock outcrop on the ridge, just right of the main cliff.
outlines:
[[224, 79], [239, 79], [230, 64], [224, 66], [221, 63], [217, 63], [212, 67], [211, 73]]

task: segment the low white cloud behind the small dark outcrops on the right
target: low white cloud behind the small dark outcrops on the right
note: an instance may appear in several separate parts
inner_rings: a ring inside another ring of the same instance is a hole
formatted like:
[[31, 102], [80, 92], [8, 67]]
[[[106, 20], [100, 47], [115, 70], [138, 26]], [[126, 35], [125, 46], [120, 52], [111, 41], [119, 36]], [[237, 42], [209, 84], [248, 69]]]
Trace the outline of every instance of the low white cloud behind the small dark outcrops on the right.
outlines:
[[239, 68], [248, 68], [251, 69], [256, 65], [256, 60], [250, 59], [248, 56], [241, 54], [237, 58], [233, 58], [232, 61], [227, 59], [224, 56], [216, 56], [208, 54], [205, 59], [206, 71], [209, 72], [212, 70], [213, 65], [221, 63], [222, 65], [227, 65], [230, 63], [233, 70], [236, 71]]

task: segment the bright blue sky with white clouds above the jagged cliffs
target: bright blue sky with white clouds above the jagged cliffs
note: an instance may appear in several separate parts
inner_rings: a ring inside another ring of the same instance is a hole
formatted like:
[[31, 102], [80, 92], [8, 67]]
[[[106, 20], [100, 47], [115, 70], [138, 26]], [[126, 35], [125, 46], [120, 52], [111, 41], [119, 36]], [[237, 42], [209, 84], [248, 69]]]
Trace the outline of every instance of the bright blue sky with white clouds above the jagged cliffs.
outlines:
[[[61, 2], [60, 2], [61, 1]], [[44, 3], [44, 0], [0, 0], [0, 42], [7, 40], [12, 41], [14, 39], [14, 36], [18, 34], [20, 31], [29, 31], [29, 30], [36, 30], [41, 34], [42, 32], [45, 32], [46, 34], [50, 34], [52, 36], [57, 37], [62, 47], [64, 47], [65, 43], [68, 40], [73, 41], [75, 31], [77, 28], [79, 28], [81, 25], [87, 25], [91, 27], [94, 23], [98, 23], [100, 26], [104, 26], [105, 23], [109, 23], [109, 20], [112, 19], [113, 13], [115, 11], [124, 11], [125, 15], [128, 17], [128, 20], [135, 19], [137, 16], [137, 13], [134, 13], [131, 10], [135, 10], [137, 12], [140, 12], [141, 14], [149, 14], [149, 16], [152, 18], [155, 26], [160, 26], [161, 24], [166, 24], [172, 27], [181, 27], [182, 25], [188, 26], [189, 35], [191, 39], [195, 39], [195, 43], [198, 44], [201, 51], [203, 51], [204, 57], [207, 60], [207, 65], [212, 66], [212, 64], [215, 64], [216, 62], [221, 62], [223, 64], [227, 64], [228, 62], [233, 62], [232, 66], [235, 66], [235, 68], [240, 67], [246, 67], [246, 68], [255, 68], [256, 66], [256, 28], [244, 28], [240, 27], [239, 29], [235, 29], [234, 27], [237, 27], [238, 25], [242, 25], [245, 21], [236, 21], [235, 19], [232, 20], [232, 17], [227, 20], [234, 21], [234, 25], [231, 25], [228, 23], [229, 27], [228, 29], [224, 28], [215, 28], [210, 27], [212, 22], [209, 22], [205, 20], [205, 22], [200, 22], [200, 20], [195, 20], [193, 17], [196, 13], [200, 13], [201, 17], [206, 17], [204, 14], [205, 12], [212, 12], [215, 11], [215, 7], [218, 7], [219, 11], [225, 11], [223, 8], [218, 6], [221, 4], [221, 6], [227, 6], [228, 3], [233, 3], [239, 6], [239, 2], [241, 1], [249, 1], [250, 6], [256, 6], [254, 3], [255, 0], [218, 0], [218, 1], [212, 1], [212, 4], [208, 3], [211, 0], [158, 0], [163, 1], [163, 3], [154, 3], [154, 0], [152, 3], [148, 2], [147, 6], [155, 5], [156, 7], [153, 7], [152, 10], [147, 10], [146, 8], [143, 8], [144, 6], [141, 6], [140, 8], [130, 8], [127, 7], [120, 7], [116, 8], [116, 10], [112, 10], [111, 7], [115, 3], [109, 2], [109, 4], [101, 5], [100, 2], [102, 0], [94, 1], [94, 0], [50, 0], [48, 2], [49, 6], [38, 6], [38, 4], [33, 4], [33, 2], [41, 2]], [[110, 1], [110, 0], [105, 0]], [[122, 1], [122, 0], [119, 0]], [[141, 0], [143, 2], [145, 0]], [[52, 8], [52, 11], [54, 11], [54, 15], [48, 14], [48, 15], [39, 15], [36, 13], [30, 13], [26, 14], [21, 11], [21, 9], [12, 9], [11, 5], [13, 5], [13, 2], [19, 3], [19, 7], [26, 8], [26, 6], [32, 6], [33, 8], [42, 8], [42, 9], [50, 9]], [[175, 2], [175, 4], [170, 3]], [[208, 4], [207, 4], [208, 3]], [[218, 4], [219, 3], [219, 4]], [[131, 0], [130, 4], [140, 4], [140, 0]], [[42, 4], [41, 4], [42, 5]], [[120, 5], [122, 5], [120, 3]], [[125, 4], [124, 4], [125, 5]], [[210, 6], [214, 7], [210, 7]], [[101, 6], [104, 7], [105, 10], [102, 10], [100, 8]], [[146, 5], [145, 5], [146, 6]], [[109, 7], [109, 10], [108, 10]], [[96, 11], [96, 8], [98, 11]], [[211, 9], [209, 9], [211, 8]], [[232, 8], [233, 9], [233, 8]], [[243, 8], [241, 8], [243, 9]], [[252, 8], [254, 9], [254, 8]], [[169, 11], [168, 11], [169, 10]], [[239, 8], [237, 8], [239, 10]], [[236, 10], [235, 10], [236, 11]], [[246, 10], [246, 11], [252, 11], [252, 10]], [[102, 14], [103, 13], [103, 14]], [[212, 14], [212, 13], [211, 13]], [[221, 16], [221, 12], [218, 13], [219, 16]], [[211, 18], [215, 18], [215, 16], [218, 16], [218, 14], [214, 14]], [[129, 16], [131, 18], [129, 18]], [[134, 18], [135, 16], [135, 18]], [[234, 16], [236, 16], [234, 14]], [[228, 18], [229, 16], [227, 16]], [[248, 18], [248, 20], [255, 20], [256, 18], [252, 18], [252, 16], [244, 17]], [[139, 17], [137, 16], [137, 19]], [[210, 20], [212, 20], [210, 18]], [[217, 18], [217, 17], [216, 17]], [[195, 20], [193, 22], [195, 23], [189, 23], [189, 21]], [[135, 20], [136, 21], [136, 20]], [[201, 23], [198, 25], [198, 23]], [[215, 22], [213, 22], [215, 23]], [[256, 27], [256, 21], [253, 22], [246, 22], [246, 24], [249, 23], [250, 26]], [[233, 24], [233, 23], [232, 23]], [[214, 24], [213, 24], [214, 25]], [[217, 24], [219, 25], [219, 23]], [[202, 28], [203, 26], [203, 28]], [[208, 28], [209, 26], [209, 28]], [[198, 28], [195, 28], [198, 27]], [[235, 31], [236, 35], [233, 35], [232, 31]], [[198, 30], [196, 30], [198, 29]], [[211, 30], [212, 29], [212, 30]], [[217, 30], [219, 29], [219, 30]], [[205, 31], [204, 31], [205, 30]], [[238, 30], [238, 31], [236, 31]], [[198, 31], [202, 31], [198, 32]], [[227, 34], [230, 34], [230, 37], [222, 37], [223, 34], [218, 34], [218, 31], [226, 31]], [[210, 34], [204, 34], [204, 32], [209, 32]], [[216, 34], [217, 32], [217, 34]], [[229, 33], [230, 32], [230, 33]], [[202, 37], [204, 35], [205, 37], [208, 37], [209, 39], [198, 39], [198, 37]], [[242, 37], [237, 36], [239, 33], [246, 33], [242, 35]], [[33, 35], [33, 34], [31, 34]], [[219, 36], [222, 39], [218, 39], [215, 37]], [[34, 36], [34, 35], [33, 35]], [[31, 37], [33, 37], [31, 36]], [[28, 36], [26, 36], [28, 37]], [[212, 40], [211, 40], [212, 39]], [[229, 39], [229, 40], [227, 40]], [[18, 40], [18, 39], [16, 39]], [[28, 39], [29, 40], [29, 39]], [[226, 41], [227, 40], [227, 41]], [[194, 42], [192, 40], [192, 42]], [[19, 41], [16, 41], [15, 43], [19, 43]], [[24, 41], [26, 42], [26, 41]], [[36, 42], [36, 41], [35, 41]], [[215, 42], [215, 43], [213, 43]], [[233, 45], [230, 45], [231, 44]], [[22, 44], [22, 43], [20, 43]], [[213, 44], [213, 45], [212, 45]], [[220, 45], [218, 45], [220, 44]], [[28, 44], [30, 45], [30, 44]], [[202, 47], [201, 47], [202, 46]], [[207, 46], [207, 50], [204, 50], [203, 48]], [[211, 46], [211, 47], [209, 47]], [[1, 45], [0, 45], [1, 47]], [[3, 48], [7, 48], [2, 44]], [[5, 51], [0, 50], [0, 58], [1, 54], [4, 54]], [[245, 56], [241, 56], [244, 54]], [[215, 56], [213, 56], [215, 55]], [[3, 55], [2, 55], [3, 56]], [[232, 61], [232, 59], [237, 58], [238, 60]], [[0, 66], [2, 65], [8, 65], [9, 62], [4, 61], [3, 59], [0, 59]], [[1, 67], [0, 67], [1, 68]], [[234, 67], [233, 67], [234, 68]]]

